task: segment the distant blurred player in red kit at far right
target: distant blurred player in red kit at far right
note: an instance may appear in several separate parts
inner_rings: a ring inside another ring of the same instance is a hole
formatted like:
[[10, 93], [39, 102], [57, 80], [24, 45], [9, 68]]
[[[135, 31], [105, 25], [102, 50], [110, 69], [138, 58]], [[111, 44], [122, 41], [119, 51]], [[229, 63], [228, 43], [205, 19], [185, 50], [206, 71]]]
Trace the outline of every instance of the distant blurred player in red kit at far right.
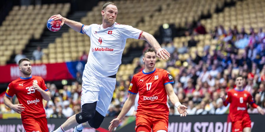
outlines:
[[227, 96], [221, 95], [223, 104], [230, 103], [229, 114], [232, 122], [232, 132], [250, 132], [251, 120], [247, 112], [247, 103], [253, 108], [257, 108], [259, 113], [264, 115], [264, 111], [253, 101], [251, 94], [243, 89], [243, 77], [236, 77], [236, 87], [227, 92]]

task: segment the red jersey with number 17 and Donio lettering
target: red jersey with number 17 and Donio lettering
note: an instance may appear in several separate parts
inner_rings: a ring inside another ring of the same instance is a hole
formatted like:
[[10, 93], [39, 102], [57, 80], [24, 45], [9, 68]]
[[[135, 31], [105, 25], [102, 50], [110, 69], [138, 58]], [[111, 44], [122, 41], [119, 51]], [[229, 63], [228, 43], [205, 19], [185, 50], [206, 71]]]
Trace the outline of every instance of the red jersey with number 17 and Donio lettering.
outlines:
[[165, 85], [174, 83], [173, 77], [166, 70], [155, 68], [153, 72], [138, 72], [132, 77], [128, 92], [139, 92], [138, 112], [168, 114]]

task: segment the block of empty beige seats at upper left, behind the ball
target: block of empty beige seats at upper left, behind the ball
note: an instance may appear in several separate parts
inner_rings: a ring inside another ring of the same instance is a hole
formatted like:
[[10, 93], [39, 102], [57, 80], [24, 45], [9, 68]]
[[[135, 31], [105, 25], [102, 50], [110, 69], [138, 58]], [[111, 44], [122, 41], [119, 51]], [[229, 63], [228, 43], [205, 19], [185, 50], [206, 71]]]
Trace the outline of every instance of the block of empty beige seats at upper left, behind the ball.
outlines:
[[66, 15], [69, 10], [69, 3], [14, 6], [0, 27], [0, 65], [23, 50], [30, 39], [39, 39], [50, 16]]

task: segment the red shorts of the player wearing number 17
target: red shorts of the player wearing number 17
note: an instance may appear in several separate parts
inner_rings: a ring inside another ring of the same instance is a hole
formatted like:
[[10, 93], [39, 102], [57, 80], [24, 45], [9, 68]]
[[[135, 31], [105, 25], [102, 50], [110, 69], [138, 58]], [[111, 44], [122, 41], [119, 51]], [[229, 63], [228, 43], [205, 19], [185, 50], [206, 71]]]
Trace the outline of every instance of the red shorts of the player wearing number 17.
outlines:
[[137, 113], [135, 131], [168, 131], [168, 114]]

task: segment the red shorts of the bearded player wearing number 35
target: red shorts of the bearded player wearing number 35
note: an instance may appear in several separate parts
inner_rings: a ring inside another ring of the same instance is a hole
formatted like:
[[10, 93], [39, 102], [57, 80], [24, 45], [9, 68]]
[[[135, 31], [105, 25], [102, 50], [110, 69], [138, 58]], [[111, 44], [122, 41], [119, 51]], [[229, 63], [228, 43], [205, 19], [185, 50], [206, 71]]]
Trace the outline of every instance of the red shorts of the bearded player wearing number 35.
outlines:
[[49, 132], [46, 117], [25, 117], [22, 118], [22, 124], [26, 132]]

